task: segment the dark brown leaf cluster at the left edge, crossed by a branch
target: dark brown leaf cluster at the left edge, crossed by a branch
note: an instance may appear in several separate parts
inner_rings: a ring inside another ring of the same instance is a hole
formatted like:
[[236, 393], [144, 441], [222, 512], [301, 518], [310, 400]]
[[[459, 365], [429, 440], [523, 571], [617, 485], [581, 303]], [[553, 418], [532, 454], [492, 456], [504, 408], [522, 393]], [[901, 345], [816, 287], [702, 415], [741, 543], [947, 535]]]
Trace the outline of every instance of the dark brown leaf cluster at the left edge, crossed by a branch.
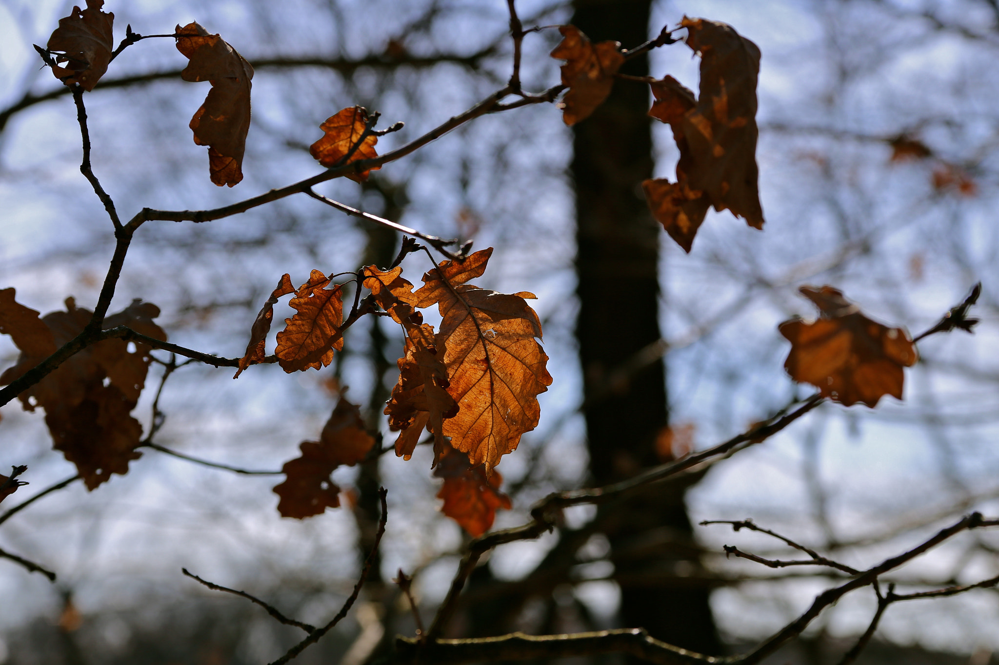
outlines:
[[[0, 385], [11, 383], [55, 353], [80, 334], [93, 316], [67, 298], [66, 311], [39, 318], [37, 311], [16, 302], [14, 295], [13, 288], [0, 290], [0, 332], [13, 338], [21, 355], [16, 365], [0, 375]], [[166, 333], [153, 322], [159, 314], [156, 305], [135, 300], [105, 318], [104, 327], [124, 325], [166, 340]], [[89, 490], [112, 474], [128, 473], [129, 462], [141, 455], [136, 448], [142, 426], [131, 412], [146, 382], [150, 350], [146, 344], [120, 339], [100, 341], [19, 395], [25, 410], [45, 410], [55, 450], [76, 465]]]

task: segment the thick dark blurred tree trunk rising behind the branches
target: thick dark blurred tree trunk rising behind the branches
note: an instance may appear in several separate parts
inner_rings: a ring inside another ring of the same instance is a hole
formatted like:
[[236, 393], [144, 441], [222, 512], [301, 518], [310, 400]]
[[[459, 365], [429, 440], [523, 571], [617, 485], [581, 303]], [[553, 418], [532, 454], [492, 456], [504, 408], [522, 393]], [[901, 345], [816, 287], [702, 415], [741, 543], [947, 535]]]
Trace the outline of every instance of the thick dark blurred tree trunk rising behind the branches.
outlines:
[[[576, 0], [572, 24], [590, 40], [634, 47], [646, 40], [650, 0]], [[648, 74], [645, 57], [622, 73]], [[576, 339], [585, 383], [583, 414], [589, 469], [605, 485], [659, 464], [656, 435], [668, 422], [662, 365], [633, 375], [609, 396], [607, 373], [659, 339], [658, 244], [641, 181], [652, 175], [648, 89], [617, 81], [607, 101], [573, 127]], [[705, 586], [683, 585], [689, 574], [691, 526], [683, 488], [660, 486], [603, 515], [621, 586], [620, 621], [661, 640], [706, 653], [720, 646]], [[612, 518], [610, 518], [612, 517]], [[686, 559], [686, 560], [685, 560]]]

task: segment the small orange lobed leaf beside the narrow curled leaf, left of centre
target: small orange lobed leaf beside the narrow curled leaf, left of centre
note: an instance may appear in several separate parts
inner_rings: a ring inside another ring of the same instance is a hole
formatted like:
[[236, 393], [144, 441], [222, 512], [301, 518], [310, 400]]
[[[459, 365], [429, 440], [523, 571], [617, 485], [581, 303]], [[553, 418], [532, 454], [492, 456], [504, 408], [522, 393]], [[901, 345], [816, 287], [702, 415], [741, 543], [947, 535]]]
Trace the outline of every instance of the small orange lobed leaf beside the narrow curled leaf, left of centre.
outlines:
[[299, 287], [288, 303], [298, 312], [285, 319], [286, 327], [278, 333], [275, 354], [281, 368], [289, 374], [328, 367], [333, 362], [334, 349], [344, 348], [340, 332], [344, 317], [342, 292], [340, 285], [323, 288], [329, 283], [326, 275], [313, 270], [309, 281]]

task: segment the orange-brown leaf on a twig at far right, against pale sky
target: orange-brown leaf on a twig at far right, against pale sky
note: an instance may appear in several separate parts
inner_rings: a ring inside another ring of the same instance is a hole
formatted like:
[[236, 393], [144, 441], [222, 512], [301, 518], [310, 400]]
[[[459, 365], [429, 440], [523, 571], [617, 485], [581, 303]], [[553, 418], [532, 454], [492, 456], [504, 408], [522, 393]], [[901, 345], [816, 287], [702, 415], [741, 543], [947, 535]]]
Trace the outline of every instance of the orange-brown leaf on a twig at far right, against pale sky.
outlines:
[[821, 315], [813, 323], [795, 318], [778, 327], [791, 342], [784, 362], [791, 378], [845, 406], [873, 408], [884, 395], [902, 399], [902, 368], [919, 357], [909, 333], [870, 320], [831, 286], [799, 290]]

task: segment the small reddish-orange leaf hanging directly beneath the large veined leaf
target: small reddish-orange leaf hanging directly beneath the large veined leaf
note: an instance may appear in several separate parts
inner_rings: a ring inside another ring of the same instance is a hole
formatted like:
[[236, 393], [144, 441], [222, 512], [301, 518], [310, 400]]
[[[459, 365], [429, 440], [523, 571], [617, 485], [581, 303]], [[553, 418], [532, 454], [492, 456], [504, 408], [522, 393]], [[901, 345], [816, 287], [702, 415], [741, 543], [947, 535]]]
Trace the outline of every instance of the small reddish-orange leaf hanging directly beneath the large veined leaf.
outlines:
[[502, 476], [486, 467], [469, 466], [469, 461], [455, 449], [444, 451], [434, 475], [444, 479], [438, 499], [444, 499], [441, 511], [457, 521], [473, 537], [479, 537], [493, 526], [497, 509], [510, 508], [509, 497], [500, 492]]

